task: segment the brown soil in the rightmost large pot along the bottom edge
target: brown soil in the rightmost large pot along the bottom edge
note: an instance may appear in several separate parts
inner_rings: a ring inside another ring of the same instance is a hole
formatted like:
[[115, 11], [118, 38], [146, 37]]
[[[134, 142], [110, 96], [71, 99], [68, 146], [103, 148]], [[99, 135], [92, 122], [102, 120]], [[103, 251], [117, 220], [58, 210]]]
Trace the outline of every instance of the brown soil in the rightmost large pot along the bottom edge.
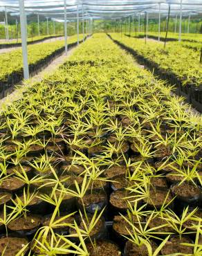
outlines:
[[161, 249], [162, 255], [172, 255], [174, 253], [184, 253], [185, 255], [192, 254], [193, 248], [191, 246], [184, 246], [182, 244], [192, 244], [192, 240], [188, 237], [172, 237], [167, 241], [165, 246]]

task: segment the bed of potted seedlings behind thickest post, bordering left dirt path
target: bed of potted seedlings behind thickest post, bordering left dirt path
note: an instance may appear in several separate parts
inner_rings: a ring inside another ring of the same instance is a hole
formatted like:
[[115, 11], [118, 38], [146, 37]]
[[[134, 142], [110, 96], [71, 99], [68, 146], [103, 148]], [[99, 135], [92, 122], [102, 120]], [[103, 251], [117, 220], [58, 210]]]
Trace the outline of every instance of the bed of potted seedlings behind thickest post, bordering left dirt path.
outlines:
[[[83, 35], [80, 35], [82, 42]], [[77, 44], [77, 36], [68, 38], [68, 47]], [[64, 52], [64, 40], [48, 42], [46, 44], [36, 44], [28, 46], [28, 62], [30, 74], [34, 74], [47, 66], [51, 60]], [[12, 60], [12, 61], [11, 61]], [[6, 91], [8, 87], [17, 84], [23, 79], [23, 62], [21, 49], [2, 53], [0, 55], [0, 93]]]

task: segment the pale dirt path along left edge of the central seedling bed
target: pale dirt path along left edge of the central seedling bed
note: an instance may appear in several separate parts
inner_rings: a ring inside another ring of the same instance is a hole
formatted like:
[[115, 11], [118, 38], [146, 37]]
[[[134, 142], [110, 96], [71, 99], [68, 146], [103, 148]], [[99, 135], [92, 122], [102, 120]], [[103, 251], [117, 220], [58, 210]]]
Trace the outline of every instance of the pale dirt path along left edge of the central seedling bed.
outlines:
[[50, 65], [44, 68], [43, 71], [31, 77], [30, 80], [27, 80], [26, 82], [15, 86], [15, 89], [13, 89], [12, 93], [8, 94], [6, 97], [0, 100], [0, 112], [6, 109], [6, 107], [12, 104], [12, 102], [14, 102], [15, 100], [19, 100], [20, 98], [22, 98], [24, 91], [26, 91], [30, 86], [33, 86], [35, 82], [41, 82], [44, 78], [53, 74], [54, 71], [59, 68], [59, 66], [61, 66], [62, 64], [64, 64], [64, 62], [66, 62], [66, 60], [68, 60], [68, 57], [73, 54], [77, 47], [80, 46], [75, 46], [74, 48], [71, 48], [68, 51], [67, 55], [63, 53], [61, 56], [57, 57], [57, 59], [53, 60]]

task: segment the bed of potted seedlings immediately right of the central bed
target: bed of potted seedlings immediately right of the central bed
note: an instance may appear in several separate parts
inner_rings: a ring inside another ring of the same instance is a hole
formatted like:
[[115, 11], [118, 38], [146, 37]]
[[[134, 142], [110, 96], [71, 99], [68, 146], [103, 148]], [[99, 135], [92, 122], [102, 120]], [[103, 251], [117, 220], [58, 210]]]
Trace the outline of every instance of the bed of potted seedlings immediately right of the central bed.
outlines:
[[183, 95], [188, 103], [192, 103], [197, 110], [202, 111], [201, 64], [196, 57], [198, 55], [196, 51], [185, 49], [180, 44], [172, 43], [168, 44], [167, 48], [163, 48], [163, 44], [158, 42], [144, 44], [142, 39], [136, 41], [118, 34], [110, 36], [155, 75], [174, 85], [174, 91], [178, 95]]

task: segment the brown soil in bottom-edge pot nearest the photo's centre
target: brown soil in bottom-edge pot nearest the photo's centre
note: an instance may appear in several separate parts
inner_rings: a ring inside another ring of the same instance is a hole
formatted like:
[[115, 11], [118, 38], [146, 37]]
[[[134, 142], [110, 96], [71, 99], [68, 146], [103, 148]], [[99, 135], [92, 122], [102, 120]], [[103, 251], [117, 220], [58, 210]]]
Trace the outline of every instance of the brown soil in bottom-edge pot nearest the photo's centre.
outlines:
[[95, 245], [87, 244], [86, 248], [91, 256], [119, 256], [120, 250], [116, 244], [110, 241], [96, 241]]

